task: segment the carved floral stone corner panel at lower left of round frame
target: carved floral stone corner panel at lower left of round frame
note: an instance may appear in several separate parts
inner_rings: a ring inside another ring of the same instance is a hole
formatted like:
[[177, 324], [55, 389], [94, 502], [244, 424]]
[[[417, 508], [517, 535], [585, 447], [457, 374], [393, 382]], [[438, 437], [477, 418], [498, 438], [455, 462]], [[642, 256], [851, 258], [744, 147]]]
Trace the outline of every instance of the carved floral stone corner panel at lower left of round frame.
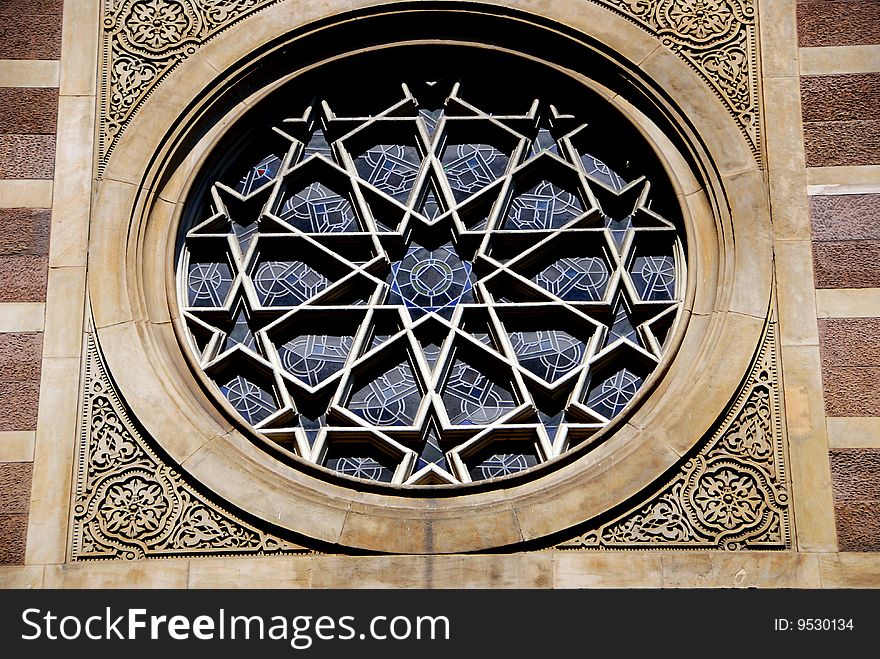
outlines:
[[237, 519], [165, 464], [120, 402], [94, 335], [83, 382], [73, 560], [306, 551]]

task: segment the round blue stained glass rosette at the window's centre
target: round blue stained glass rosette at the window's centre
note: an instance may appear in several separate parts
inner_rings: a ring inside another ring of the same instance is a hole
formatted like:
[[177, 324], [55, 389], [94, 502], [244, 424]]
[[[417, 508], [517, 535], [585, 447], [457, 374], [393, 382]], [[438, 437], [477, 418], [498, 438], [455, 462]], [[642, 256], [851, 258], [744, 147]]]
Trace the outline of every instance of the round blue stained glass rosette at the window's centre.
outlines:
[[413, 315], [452, 309], [472, 299], [471, 273], [471, 264], [462, 261], [452, 245], [435, 250], [410, 247], [403, 259], [391, 264], [390, 301], [402, 302]]

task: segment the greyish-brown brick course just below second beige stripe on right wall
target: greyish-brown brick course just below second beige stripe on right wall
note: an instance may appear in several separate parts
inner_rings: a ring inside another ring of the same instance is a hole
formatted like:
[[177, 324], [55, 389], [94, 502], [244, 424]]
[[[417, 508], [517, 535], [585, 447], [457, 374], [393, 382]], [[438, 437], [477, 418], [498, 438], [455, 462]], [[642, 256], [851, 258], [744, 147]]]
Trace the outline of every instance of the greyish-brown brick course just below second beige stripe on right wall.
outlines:
[[810, 197], [813, 240], [880, 240], [880, 194]]

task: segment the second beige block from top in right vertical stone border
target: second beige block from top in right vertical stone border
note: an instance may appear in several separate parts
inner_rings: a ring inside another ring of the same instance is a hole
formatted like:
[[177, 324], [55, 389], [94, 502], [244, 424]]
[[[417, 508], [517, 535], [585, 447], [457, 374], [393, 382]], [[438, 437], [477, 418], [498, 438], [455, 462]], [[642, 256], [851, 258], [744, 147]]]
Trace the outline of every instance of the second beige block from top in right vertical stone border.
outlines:
[[764, 81], [764, 143], [777, 238], [810, 239], [798, 78]]

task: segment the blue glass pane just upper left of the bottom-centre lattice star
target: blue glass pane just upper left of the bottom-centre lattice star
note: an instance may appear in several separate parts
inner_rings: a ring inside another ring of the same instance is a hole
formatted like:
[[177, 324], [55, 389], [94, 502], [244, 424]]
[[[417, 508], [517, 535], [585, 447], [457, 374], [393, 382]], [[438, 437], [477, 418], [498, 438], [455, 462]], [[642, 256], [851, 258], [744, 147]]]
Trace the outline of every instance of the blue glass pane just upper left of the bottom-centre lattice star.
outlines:
[[403, 362], [356, 391], [348, 408], [377, 426], [409, 426], [421, 402], [412, 369]]

